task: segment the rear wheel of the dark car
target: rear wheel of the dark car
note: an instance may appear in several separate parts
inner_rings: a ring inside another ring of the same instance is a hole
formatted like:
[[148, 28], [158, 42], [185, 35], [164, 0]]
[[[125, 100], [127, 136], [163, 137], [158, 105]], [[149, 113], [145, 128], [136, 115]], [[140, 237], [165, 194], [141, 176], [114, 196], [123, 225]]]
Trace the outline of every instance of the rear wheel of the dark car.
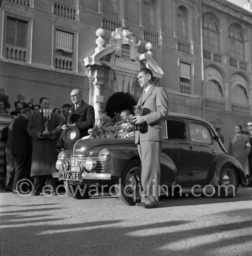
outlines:
[[225, 167], [220, 172], [219, 187], [215, 187], [215, 193], [222, 198], [230, 198], [236, 195], [238, 188], [237, 173], [232, 167]]

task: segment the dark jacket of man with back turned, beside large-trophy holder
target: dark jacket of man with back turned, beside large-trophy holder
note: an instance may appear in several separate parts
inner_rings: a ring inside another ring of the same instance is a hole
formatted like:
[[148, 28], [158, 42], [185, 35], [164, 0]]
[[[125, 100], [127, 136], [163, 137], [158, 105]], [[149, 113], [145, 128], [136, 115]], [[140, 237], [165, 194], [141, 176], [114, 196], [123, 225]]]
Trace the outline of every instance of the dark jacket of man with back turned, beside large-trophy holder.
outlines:
[[12, 155], [32, 155], [33, 139], [27, 132], [28, 119], [24, 116], [16, 118], [12, 129]]

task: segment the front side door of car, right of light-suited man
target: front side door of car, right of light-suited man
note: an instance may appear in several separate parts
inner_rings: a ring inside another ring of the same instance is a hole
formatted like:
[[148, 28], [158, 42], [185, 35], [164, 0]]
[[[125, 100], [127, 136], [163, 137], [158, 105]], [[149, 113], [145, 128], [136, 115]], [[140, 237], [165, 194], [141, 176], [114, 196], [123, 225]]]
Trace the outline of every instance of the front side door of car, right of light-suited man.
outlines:
[[188, 184], [191, 173], [191, 149], [187, 120], [168, 117], [161, 152], [160, 184]]

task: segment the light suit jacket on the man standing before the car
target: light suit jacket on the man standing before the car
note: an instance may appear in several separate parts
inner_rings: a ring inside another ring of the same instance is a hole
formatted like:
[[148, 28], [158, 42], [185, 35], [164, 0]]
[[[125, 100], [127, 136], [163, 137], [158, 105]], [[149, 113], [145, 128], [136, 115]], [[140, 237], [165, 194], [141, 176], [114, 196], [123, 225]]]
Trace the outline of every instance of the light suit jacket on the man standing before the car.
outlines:
[[142, 93], [137, 104], [142, 105], [142, 115], [146, 117], [147, 123], [145, 123], [145, 131], [136, 131], [135, 143], [146, 140], [163, 141], [162, 120], [169, 111], [168, 95], [165, 89], [152, 85], [146, 95]]

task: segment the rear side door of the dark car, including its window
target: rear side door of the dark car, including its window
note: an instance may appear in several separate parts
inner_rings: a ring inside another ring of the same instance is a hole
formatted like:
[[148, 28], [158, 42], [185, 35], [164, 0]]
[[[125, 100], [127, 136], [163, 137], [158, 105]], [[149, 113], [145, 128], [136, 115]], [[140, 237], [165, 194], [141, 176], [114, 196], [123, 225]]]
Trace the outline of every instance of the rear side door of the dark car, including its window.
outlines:
[[191, 184], [208, 184], [208, 172], [216, 157], [215, 141], [206, 123], [189, 120], [192, 148]]

